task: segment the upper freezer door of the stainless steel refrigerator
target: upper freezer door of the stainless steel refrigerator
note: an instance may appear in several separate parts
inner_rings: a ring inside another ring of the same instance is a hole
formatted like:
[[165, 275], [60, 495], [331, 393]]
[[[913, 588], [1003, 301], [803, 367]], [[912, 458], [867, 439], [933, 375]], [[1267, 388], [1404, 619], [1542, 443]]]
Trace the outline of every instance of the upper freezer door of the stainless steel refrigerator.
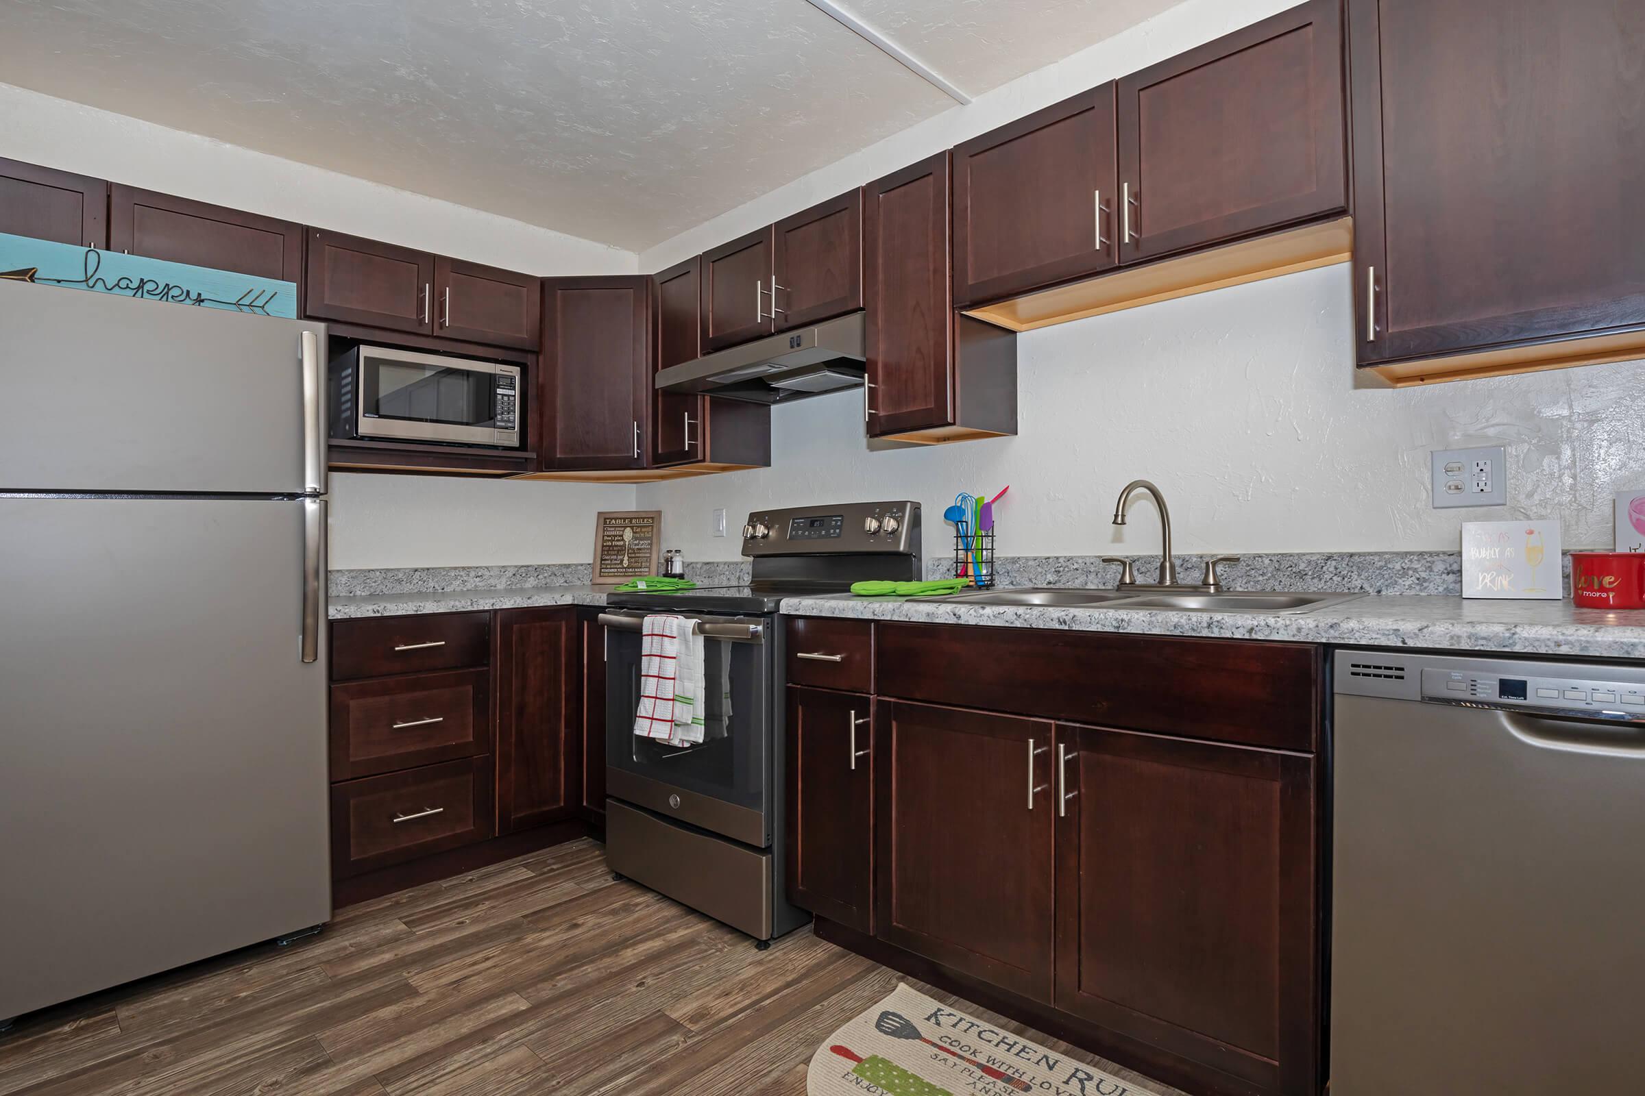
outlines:
[[0, 281], [0, 491], [326, 490], [324, 324]]

